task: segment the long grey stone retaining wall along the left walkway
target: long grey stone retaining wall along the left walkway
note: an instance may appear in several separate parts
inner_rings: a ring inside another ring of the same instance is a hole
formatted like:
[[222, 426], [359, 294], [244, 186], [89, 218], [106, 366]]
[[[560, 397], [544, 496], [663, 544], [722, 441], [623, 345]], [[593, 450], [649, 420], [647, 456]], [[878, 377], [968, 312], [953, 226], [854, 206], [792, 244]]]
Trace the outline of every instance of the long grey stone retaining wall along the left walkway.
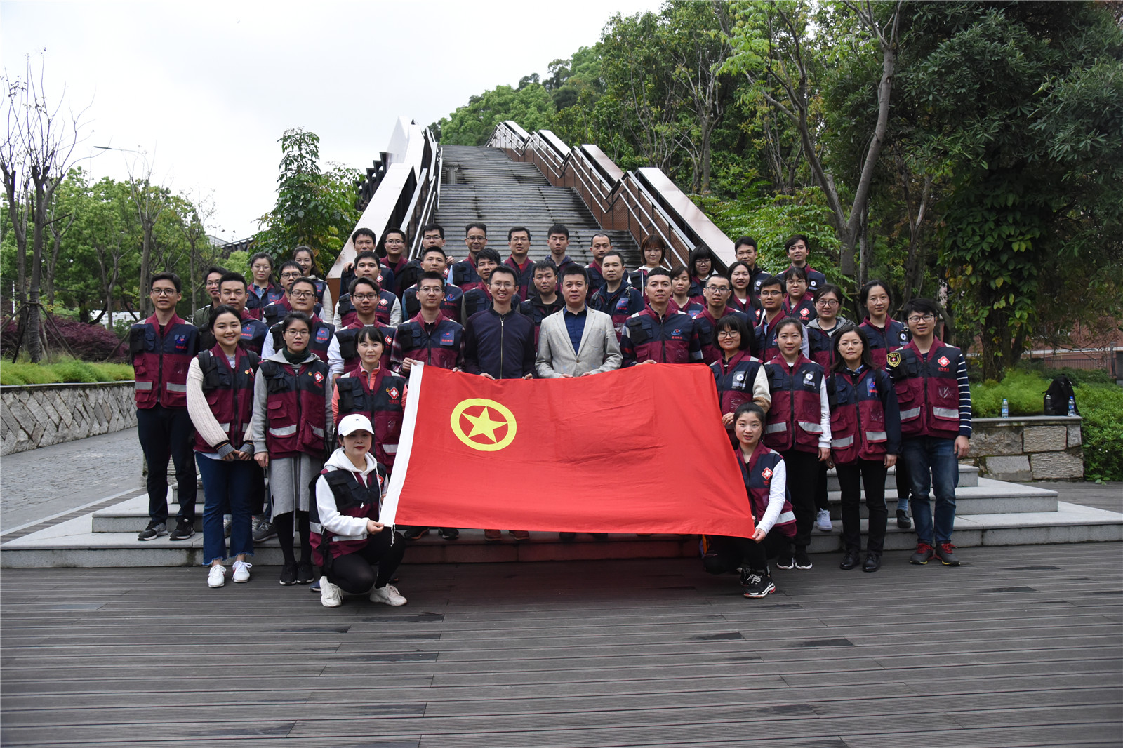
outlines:
[[0, 455], [136, 425], [133, 382], [0, 387]]

